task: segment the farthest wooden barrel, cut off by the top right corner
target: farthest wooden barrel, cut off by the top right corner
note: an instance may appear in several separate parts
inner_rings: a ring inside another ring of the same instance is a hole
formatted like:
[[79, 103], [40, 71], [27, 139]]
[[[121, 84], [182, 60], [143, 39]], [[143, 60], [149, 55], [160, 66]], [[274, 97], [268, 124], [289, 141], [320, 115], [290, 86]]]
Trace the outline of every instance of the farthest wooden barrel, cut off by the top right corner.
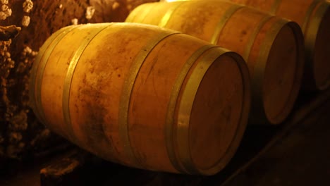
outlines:
[[330, 87], [330, 1], [231, 0], [297, 22], [305, 35], [305, 91]]

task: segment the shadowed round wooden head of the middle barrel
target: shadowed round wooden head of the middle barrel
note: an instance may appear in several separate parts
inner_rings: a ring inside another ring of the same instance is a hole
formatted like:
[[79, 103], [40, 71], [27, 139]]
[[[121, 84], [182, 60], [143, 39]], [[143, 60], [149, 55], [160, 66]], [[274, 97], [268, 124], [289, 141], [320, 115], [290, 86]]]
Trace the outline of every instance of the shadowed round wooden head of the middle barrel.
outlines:
[[264, 112], [272, 124], [287, 118], [298, 97], [303, 49], [302, 32], [297, 23], [285, 23], [271, 44], [262, 84]]

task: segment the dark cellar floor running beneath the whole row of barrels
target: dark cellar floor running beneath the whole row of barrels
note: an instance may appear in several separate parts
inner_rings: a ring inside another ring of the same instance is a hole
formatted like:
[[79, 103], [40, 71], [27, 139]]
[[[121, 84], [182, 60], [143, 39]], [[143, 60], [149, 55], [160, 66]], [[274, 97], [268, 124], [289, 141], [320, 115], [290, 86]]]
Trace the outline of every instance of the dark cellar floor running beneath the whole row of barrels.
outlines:
[[329, 142], [330, 89], [300, 96], [295, 111], [280, 126], [250, 125], [236, 156], [214, 176], [154, 173], [97, 160], [59, 178], [40, 181], [42, 168], [56, 165], [61, 169], [59, 162], [79, 154], [69, 148], [18, 166], [18, 173], [0, 175], [0, 185], [330, 185]]

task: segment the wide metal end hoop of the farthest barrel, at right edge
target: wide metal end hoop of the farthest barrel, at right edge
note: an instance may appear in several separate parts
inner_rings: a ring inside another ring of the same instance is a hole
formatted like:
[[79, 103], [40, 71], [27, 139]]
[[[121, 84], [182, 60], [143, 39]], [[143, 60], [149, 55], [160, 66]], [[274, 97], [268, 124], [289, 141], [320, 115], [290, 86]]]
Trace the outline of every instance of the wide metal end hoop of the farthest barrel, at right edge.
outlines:
[[[305, 54], [307, 58], [307, 69], [314, 69], [313, 67], [313, 56], [315, 49], [315, 42], [317, 39], [317, 33], [319, 32], [319, 25], [322, 22], [323, 16], [330, 8], [330, 2], [324, 1], [319, 5], [315, 11], [314, 16], [310, 19], [305, 30]], [[315, 86], [316, 82], [315, 82]]]

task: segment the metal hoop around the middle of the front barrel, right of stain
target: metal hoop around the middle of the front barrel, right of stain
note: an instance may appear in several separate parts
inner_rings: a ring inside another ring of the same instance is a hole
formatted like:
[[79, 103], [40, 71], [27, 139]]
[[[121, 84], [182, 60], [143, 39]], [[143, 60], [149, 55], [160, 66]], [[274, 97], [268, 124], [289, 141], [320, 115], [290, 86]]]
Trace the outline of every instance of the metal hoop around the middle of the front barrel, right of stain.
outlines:
[[126, 156], [130, 159], [130, 161], [133, 161], [135, 166], [140, 166], [141, 168], [142, 163], [140, 163], [140, 160], [135, 156], [133, 152], [128, 134], [128, 112], [130, 107], [130, 97], [133, 92], [135, 79], [138, 76], [142, 64], [145, 62], [145, 59], [152, 51], [152, 49], [154, 49], [154, 47], [157, 46], [157, 44], [159, 44], [159, 42], [164, 40], [166, 37], [179, 33], [180, 32], [164, 31], [157, 35], [157, 37], [150, 39], [149, 43], [140, 49], [140, 52], [134, 58], [132, 65], [130, 66], [130, 73], [128, 74], [128, 77], [125, 78], [123, 83], [123, 90], [121, 92], [120, 108], [118, 113], [119, 139], [123, 143], [123, 149]]

